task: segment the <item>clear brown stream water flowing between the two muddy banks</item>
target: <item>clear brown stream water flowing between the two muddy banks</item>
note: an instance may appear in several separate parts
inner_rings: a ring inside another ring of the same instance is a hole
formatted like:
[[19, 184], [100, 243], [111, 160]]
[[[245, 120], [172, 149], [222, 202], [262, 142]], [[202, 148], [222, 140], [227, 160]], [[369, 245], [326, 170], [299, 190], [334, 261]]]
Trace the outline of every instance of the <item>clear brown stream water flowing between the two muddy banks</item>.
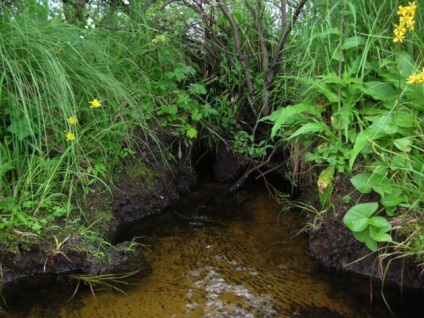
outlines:
[[[322, 273], [296, 235], [302, 217], [265, 190], [227, 195], [202, 185], [168, 212], [138, 225], [153, 274], [120, 293], [80, 292], [31, 317], [389, 317], [370, 304], [369, 284]], [[69, 291], [68, 291], [69, 294]], [[400, 317], [400, 316], [398, 316]], [[407, 315], [405, 317], [413, 317]]]

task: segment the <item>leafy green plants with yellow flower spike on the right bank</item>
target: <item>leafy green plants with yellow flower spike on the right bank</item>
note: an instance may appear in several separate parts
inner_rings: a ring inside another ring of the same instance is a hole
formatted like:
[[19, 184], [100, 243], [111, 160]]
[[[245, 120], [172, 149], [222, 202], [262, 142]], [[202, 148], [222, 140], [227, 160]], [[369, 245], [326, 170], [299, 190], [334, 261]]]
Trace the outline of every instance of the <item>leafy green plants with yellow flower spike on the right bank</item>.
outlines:
[[[393, 16], [390, 6], [371, 7], [361, 1], [355, 6], [350, 1], [331, 5], [324, 16], [327, 27], [313, 33], [304, 47], [307, 56], [319, 58], [299, 63], [298, 76], [284, 76], [296, 83], [301, 102], [280, 107], [262, 120], [271, 123], [274, 140], [295, 145], [303, 151], [303, 160], [315, 164], [322, 206], [331, 204], [336, 174], [353, 173], [351, 182], [360, 193], [380, 196], [386, 215], [374, 215], [377, 206], [361, 203], [347, 213], [355, 237], [376, 250], [377, 242], [391, 241], [391, 218], [422, 213], [424, 77], [416, 71], [423, 47], [419, 30], [410, 32], [417, 18], [415, 2], [399, 7], [392, 41], [397, 52], [380, 36], [388, 25], [366, 20]], [[336, 8], [341, 16], [331, 14]], [[408, 42], [405, 50], [403, 42]]]

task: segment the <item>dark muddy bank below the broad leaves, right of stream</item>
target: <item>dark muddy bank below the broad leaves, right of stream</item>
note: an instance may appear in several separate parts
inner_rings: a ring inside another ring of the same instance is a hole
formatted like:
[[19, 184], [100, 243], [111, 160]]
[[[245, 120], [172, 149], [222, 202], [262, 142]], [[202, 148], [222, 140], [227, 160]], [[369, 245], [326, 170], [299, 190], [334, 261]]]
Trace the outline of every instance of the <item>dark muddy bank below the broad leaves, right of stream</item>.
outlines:
[[[362, 196], [358, 193], [347, 178], [336, 178], [334, 208], [329, 208], [322, 215], [310, 214], [307, 222], [313, 224], [309, 231], [309, 251], [328, 270], [344, 271], [370, 277], [378, 284], [384, 277], [385, 284], [400, 288], [424, 290], [422, 267], [415, 259], [404, 257], [401, 259], [384, 258], [384, 252], [390, 249], [372, 253], [365, 244], [357, 241], [349, 229], [343, 224], [343, 216], [352, 207], [352, 203], [344, 202], [343, 197], [349, 195], [351, 202], [378, 201], [378, 197]], [[316, 203], [315, 189], [303, 195], [304, 200]], [[319, 211], [319, 210], [318, 210]], [[401, 240], [402, 238], [397, 238]], [[381, 244], [379, 245], [382, 246]]]

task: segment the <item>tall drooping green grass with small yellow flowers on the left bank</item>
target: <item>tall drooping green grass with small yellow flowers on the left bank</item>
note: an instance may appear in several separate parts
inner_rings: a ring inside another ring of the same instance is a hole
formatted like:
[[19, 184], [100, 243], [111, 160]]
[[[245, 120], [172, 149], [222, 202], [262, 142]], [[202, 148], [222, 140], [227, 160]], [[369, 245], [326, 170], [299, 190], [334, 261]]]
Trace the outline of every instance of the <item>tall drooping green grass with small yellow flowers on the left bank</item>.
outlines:
[[158, 56], [148, 26], [85, 30], [0, 12], [0, 228], [37, 231], [77, 211], [76, 189], [107, 178], [136, 145], [156, 144], [165, 158], [152, 87], [179, 57]]

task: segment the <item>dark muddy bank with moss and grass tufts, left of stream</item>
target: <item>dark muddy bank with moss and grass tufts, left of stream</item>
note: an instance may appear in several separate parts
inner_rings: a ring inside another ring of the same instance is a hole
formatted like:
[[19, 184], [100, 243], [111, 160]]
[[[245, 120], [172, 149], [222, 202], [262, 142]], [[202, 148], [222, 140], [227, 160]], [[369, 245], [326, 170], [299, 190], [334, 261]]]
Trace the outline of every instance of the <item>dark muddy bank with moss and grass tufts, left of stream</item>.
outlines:
[[[2, 296], [6, 301], [16, 298], [22, 288], [40, 294], [43, 286], [57, 284], [59, 277], [64, 278], [60, 283], [75, 286], [76, 281], [67, 279], [74, 274], [149, 275], [142, 247], [120, 241], [120, 233], [171, 205], [195, 182], [196, 174], [186, 164], [166, 167], [136, 157], [126, 160], [115, 173], [112, 189], [99, 185], [82, 203], [86, 220], [50, 224], [52, 230], [43, 237], [17, 230], [8, 233], [10, 241], [0, 250]], [[72, 294], [73, 288], [69, 290]]]

